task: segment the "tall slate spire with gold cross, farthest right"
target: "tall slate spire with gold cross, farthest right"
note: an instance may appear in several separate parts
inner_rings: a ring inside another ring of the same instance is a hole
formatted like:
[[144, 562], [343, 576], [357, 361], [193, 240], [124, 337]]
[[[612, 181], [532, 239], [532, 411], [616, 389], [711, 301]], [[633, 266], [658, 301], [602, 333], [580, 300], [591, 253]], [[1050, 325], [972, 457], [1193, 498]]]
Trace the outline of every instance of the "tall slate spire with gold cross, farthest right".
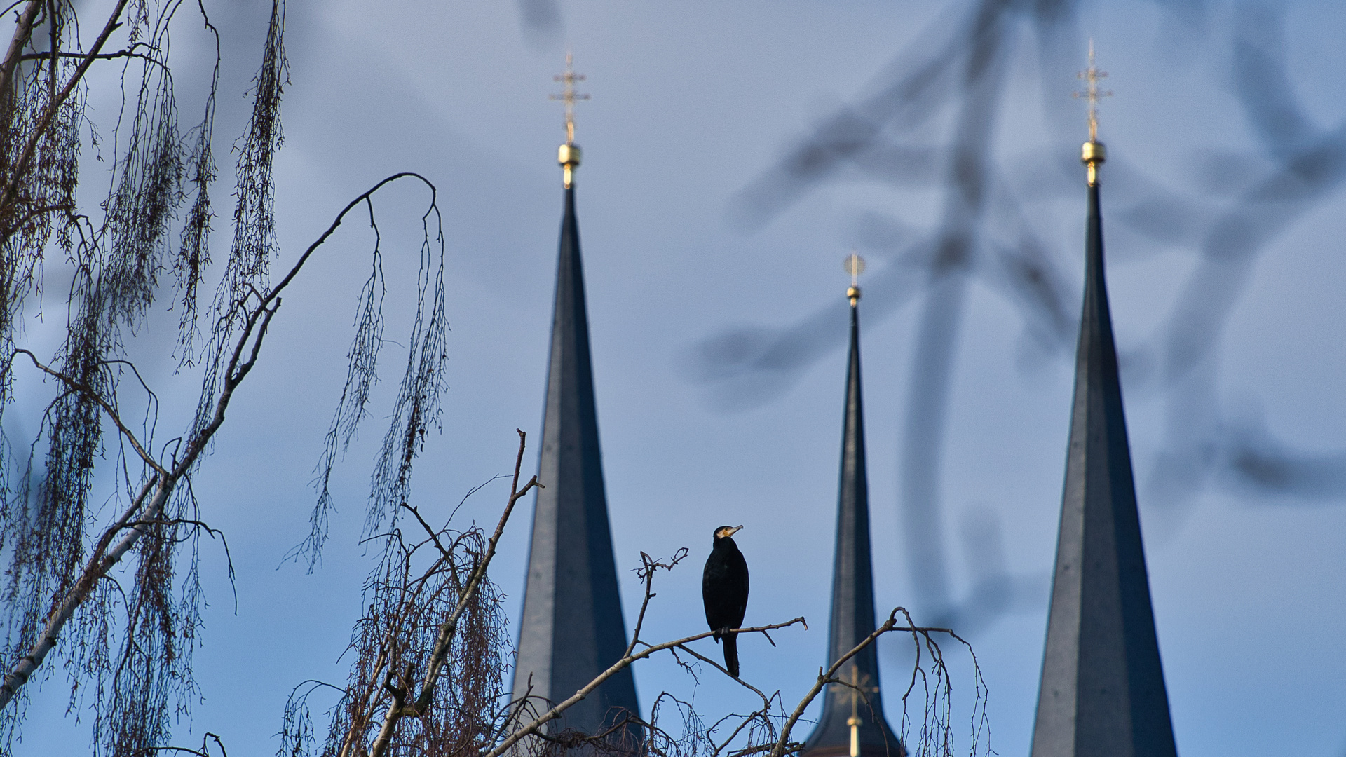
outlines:
[[1175, 757], [1104, 280], [1092, 48], [1085, 77], [1085, 304], [1032, 757]]

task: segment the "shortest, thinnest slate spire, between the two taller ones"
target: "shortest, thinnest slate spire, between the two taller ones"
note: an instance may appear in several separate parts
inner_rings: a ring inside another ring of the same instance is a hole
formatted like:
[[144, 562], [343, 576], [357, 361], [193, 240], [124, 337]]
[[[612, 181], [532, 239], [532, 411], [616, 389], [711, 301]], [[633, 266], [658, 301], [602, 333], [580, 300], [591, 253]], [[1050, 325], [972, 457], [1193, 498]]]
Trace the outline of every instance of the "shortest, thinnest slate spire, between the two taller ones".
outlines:
[[[870, 485], [864, 470], [864, 404], [860, 397], [859, 256], [847, 259], [852, 272], [851, 364], [847, 369], [845, 420], [841, 426], [841, 492], [837, 498], [836, 563], [832, 574], [832, 625], [828, 665], [874, 633], [874, 568], [870, 559]], [[832, 684], [822, 695], [822, 717], [801, 757], [902, 757], [900, 739], [883, 717], [879, 655], [871, 644], [837, 671], [856, 688]], [[859, 690], [859, 691], [857, 691]]]

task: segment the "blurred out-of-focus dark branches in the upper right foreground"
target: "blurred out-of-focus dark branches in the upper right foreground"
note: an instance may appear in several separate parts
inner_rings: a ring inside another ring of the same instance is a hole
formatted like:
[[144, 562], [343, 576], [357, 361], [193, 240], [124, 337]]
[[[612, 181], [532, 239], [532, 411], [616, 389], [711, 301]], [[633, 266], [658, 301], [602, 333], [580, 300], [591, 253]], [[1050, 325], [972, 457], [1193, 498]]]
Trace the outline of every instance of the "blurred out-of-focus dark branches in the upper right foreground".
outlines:
[[[1038, 606], [1022, 601], [1022, 591], [1043, 585], [1036, 577], [1003, 574], [954, 591], [940, 471], [969, 283], [988, 284], [1019, 314], [1028, 348], [1020, 358], [1055, 360], [1074, 343], [1071, 303], [1078, 295], [1065, 273], [1073, 267], [1061, 261], [1075, 252], [1051, 249], [1036, 230], [1043, 220], [1034, 217], [1042, 199], [1078, 191], [1074, 160], [1035, 151], [1008, 170], [992, 147], [1007, 101], [1008, 58], [1035, 42], [1032, 63], [1047, 101], [1055, 101], [1050, 82], [1063, 78], [1082, 48], [1081, 5], [952, 5], [929, 24], [929, 34], [915, 35], [867, 96], [821, 119], [748, 182], [730, 209], [732, 222], [754, 230], [806, 194], [853, 180], [929, 191], [942, 201], [933, 224], [895, 207], [884, 217], [865, 211], [855, 233], [863, 246], [892, 260], [865, 288], [872, 317], [919, 303], [898, 506], [917, 605], [944, 625], [957, 620], [960, 628], [981, 628], [1001, 612]], [[1183, 34], [1205, 34], [1205, 3], [1163, 8], [1176, 13], [1175, 28]], [[1170, 509], [1186, 511], [1214, 481], [1254, 502], [1346, 496], [1346, 453], [1296, 453], [1257, 428], [1225, 420], [1219, 400], [1217, 346], [1256, 263], [1294, 224], [1335, 197], [1346, 178], [1346, 127], [1316, 127], [1291, 86], [1281, 42], [1285, 11], [1246, 4], [1233, 12], [1229, 81], [1256, 145], [1198, 150], [1197, 170], [1187, 172], [1195, 182], [1190, 191], [1164, 189], [1135, 162], [1109, 162], [1117, 179], [1117, 230], [1163, 255], [1198, 256], [1163, 325], [1123, 356], [1128, 392], [1158, 393], [1166, 404], [1167, 432], [1152, 450], [1159, 465], [1145, 501]], [[1055, 108], [1046, 110], [1047, 125], [1061, 137], [1055, 141], [1075, 133], [1078, 121], [1066, 127]], [[717, 409], [770, 403], [844, 345], [843, 312], [837, 302], [787, 326], [727, 330], [685, 352], [680, 364]]]

